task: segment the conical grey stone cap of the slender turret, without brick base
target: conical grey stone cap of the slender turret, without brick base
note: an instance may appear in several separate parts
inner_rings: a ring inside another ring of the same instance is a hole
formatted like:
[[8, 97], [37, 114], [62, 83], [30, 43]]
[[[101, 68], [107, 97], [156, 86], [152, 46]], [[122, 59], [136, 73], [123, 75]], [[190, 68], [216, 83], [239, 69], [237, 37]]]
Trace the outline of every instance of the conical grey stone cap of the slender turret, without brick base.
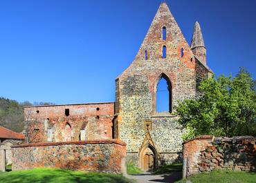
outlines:
[[205, 47], [201, 27], [200, 27], [198, 21], [196, 21], [196, 23], [194, 23], [194, 31], [193, 31], [190, 48], [193, 49], [193, 48], [201, 47], [201, 46]]

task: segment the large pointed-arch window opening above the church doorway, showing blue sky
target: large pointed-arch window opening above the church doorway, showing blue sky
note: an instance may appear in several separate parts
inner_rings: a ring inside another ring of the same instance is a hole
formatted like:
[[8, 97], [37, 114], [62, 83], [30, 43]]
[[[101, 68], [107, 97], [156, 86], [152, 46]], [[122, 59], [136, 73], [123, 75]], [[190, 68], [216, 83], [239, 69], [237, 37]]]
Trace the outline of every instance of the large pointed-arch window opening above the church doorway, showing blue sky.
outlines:
[[156, 112], [172, 113], [172, 84], [165, 74], [156, 86]]

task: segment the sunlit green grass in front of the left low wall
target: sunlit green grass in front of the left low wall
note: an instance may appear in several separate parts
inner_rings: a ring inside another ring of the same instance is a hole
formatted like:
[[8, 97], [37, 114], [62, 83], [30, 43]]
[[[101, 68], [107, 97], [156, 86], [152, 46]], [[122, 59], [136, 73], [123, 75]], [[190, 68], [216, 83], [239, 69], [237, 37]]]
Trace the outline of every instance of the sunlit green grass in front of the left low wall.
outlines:
[[132, 180], [111, 173], [84, 173], [57, 168], [35, 168], [0, 173], [1, 183], [130, 183]]

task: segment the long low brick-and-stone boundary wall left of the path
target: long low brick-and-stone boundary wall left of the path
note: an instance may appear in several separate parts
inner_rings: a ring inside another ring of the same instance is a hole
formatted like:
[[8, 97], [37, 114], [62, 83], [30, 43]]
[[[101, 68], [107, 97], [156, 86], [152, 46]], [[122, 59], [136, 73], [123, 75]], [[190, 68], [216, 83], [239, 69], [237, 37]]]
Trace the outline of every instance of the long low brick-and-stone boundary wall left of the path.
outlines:
[[56, 167], [126, 173], [126, 144], [119, 139], [12, 146], [12, 170]]

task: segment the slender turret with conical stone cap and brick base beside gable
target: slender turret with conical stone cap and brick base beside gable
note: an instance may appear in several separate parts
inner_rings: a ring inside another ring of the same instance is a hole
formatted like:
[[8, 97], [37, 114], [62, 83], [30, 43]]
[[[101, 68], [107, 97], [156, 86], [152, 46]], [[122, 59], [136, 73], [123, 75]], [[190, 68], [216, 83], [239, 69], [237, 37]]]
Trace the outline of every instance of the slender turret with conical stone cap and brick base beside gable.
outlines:
[[193, 54], [196, 56], [196, 58], [206, 65], [206, 48], [203, 41], [201, 27], [198, 21], [194, 23], [194, 31], [190, 48]]

